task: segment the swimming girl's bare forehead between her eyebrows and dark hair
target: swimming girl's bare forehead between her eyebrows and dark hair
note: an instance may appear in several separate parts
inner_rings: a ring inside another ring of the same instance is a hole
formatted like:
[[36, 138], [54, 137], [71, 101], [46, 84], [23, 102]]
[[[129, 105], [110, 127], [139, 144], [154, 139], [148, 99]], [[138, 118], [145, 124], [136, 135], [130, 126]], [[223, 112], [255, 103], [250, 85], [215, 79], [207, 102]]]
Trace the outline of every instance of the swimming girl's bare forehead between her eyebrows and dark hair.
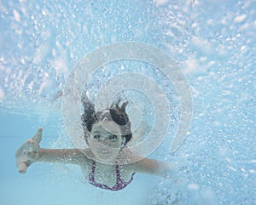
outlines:
[[101, 121], [93, 124], [91, 128], [91, 133], [101, 132], [108, 134], [117, 134], [121, 135], [120, 126], [112, 121]]

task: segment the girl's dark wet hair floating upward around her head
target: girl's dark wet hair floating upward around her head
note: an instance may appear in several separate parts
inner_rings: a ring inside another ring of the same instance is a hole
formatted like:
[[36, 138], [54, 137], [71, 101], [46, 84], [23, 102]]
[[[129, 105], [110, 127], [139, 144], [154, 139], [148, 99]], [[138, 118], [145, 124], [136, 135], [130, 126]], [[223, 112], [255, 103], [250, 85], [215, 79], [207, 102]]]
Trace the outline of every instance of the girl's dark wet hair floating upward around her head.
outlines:
[[[95, 106], [90, 102], [90, 100], [84, 96], [83, 97], [84, 113], [82, 114], [82, 126], [84, 128], [84, 137], [88, 144], [88, 131], [91, 132], [91, 128], [94, 123], [100, 121], [113, 121], [118, 125], [123, 126], [125, 130], [122, 130], [122, 138], [124, 140], [124, 146], [131, 140], [131, 122], [127, 113], [125, 112], [125, 107], [128, 105], [128, 102], [123, 103], [119, 106], [119, 102], [115, 101], [111, 105], [110, 109], [105, 111], [95, 111]], [[87, 128], [87, 129], [86, 129]]]

